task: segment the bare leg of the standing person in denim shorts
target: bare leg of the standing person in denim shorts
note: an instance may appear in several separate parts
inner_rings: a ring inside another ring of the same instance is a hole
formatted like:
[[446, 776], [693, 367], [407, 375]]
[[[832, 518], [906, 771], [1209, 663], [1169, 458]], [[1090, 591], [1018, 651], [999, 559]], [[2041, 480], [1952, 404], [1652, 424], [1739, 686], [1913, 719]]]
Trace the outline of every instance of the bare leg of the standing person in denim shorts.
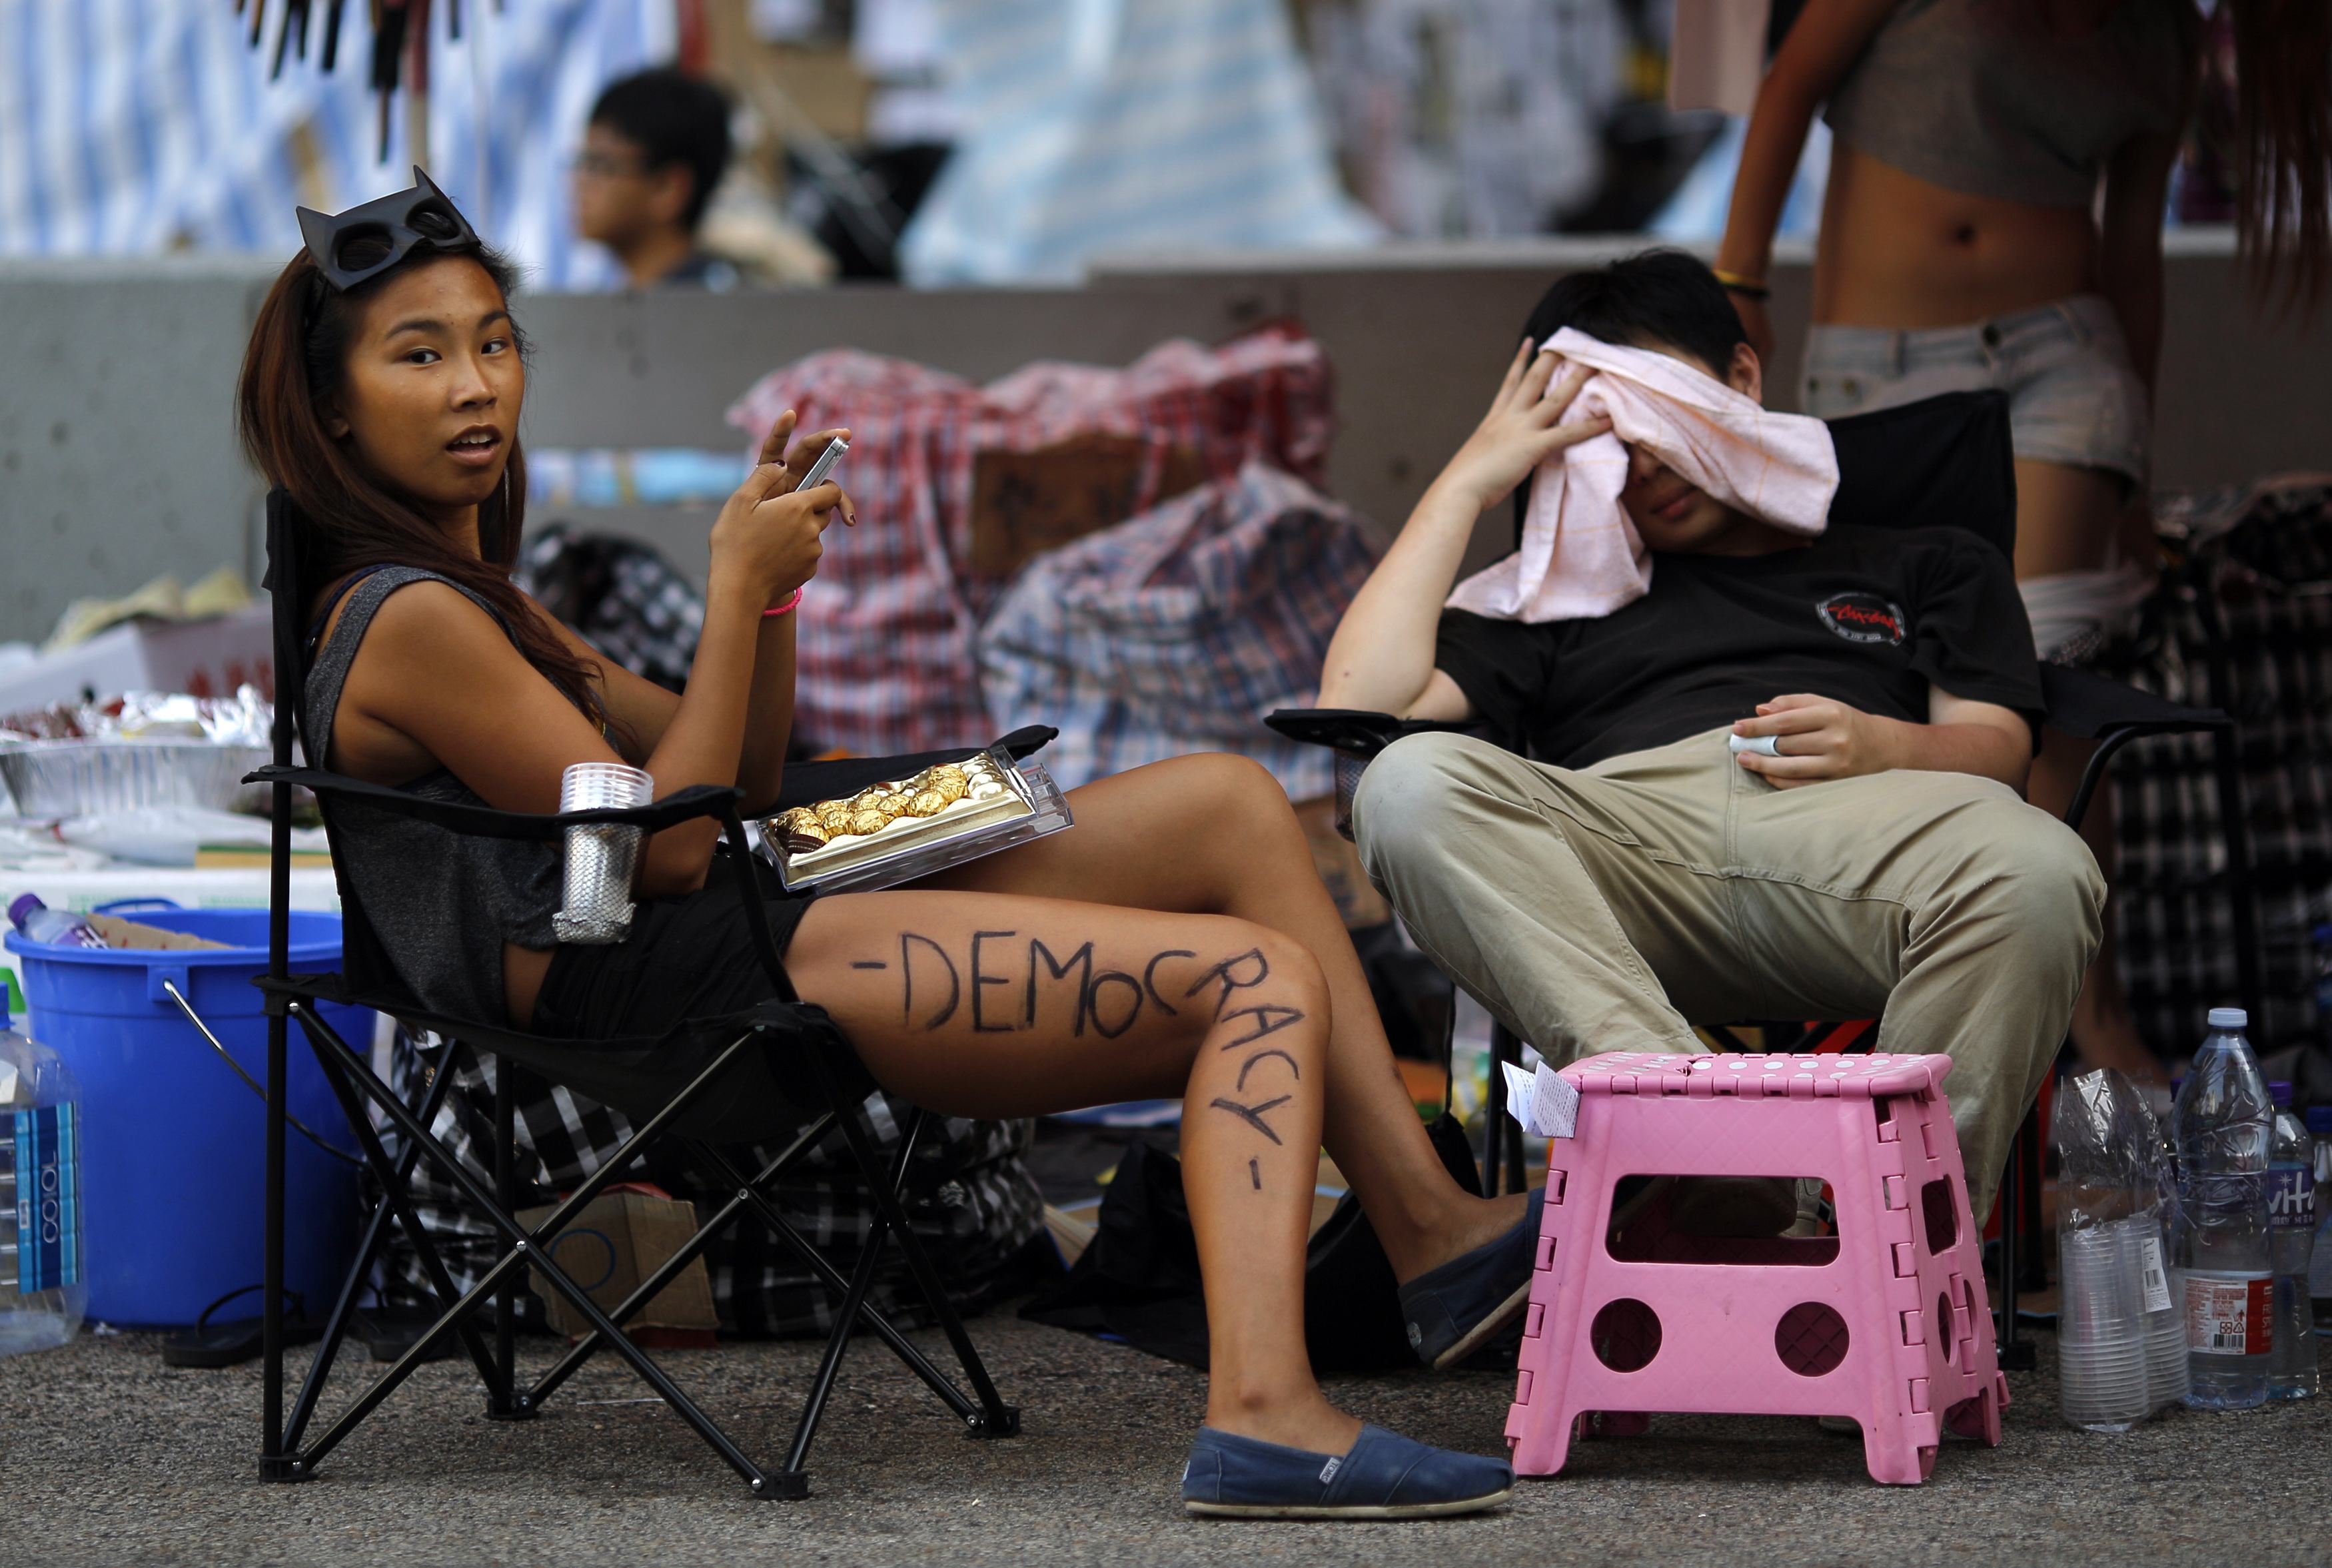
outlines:
[[[2099, 468], [2068, 468], [2064, 464], [2017, 464], [2017, 578], [2038, 578], [2057, 571], [2087, 571], [2103, 566], [2106, 545], [2134, 510], [2124, 503], [2124, 480]], [[2150, 548], [2150, 534], [2143, 538]], [[2034, 806], [2052, 815], [2064, 815], [2080, 787], [2080, 771], [2094, 748], [2087, 741], [2047, 732], [2040, 755], [2034, 757], [2027, 797]], [[2096, 792], [2080, 822], [2080, 836], [2096, 855], [2099, 869], [2110, 885], [2115, 876], [2113, 839], [2113, 787]], [[2113, 916], [2106, 913], [2106, 939], [2089, 960], [2089, 972], [2080, 986], [2080, 1002], [2073, 1007], [2073, 1051], [2082, 1067], [2113, 1067], [2138, 1083], [2162, 1083], [2162, 1062], [2145, 1041], [2129, 1013], [2129, 995], [2122, 990], [2122, 974], [2115, 967]]]

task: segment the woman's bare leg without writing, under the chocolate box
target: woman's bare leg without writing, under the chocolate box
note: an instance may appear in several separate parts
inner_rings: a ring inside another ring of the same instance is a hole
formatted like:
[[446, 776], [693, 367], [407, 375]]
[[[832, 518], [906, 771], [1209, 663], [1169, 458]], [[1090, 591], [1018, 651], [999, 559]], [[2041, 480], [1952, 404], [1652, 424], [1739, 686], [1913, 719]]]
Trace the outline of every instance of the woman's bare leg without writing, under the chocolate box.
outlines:
[[[1175, 757], [1070, 792], [1077, 827], [923, 885], [1220, 913], [1301, 944], [1327, 979], [1327, 1151], [1409, 1281], [1523, 1219], [1520, 1193], [1460, 1188], [1392, 1065], [1369, 979], [1269, 771], [1222, 753]], [[1189, 1123], [1185, 1123], [1189, 1125]]]

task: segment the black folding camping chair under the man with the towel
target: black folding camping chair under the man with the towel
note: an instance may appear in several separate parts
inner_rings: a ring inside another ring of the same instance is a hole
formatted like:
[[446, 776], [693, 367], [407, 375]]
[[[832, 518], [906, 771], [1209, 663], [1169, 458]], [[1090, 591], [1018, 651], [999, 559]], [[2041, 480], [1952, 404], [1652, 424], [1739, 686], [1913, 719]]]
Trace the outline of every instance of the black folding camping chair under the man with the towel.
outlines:
[[[2008, 431], [2008, 396], [2001, 391], [1950, 391], [1919, 403], [1882, 408], [1868, 415], [1852, 415], [1831, 422], [1838, 447], [1838, 496], [1831, 501], [1831, 522], [1866, 529], [1968, 529], [2001, 555], [2015, 555], [2017, 541], [2017, 475], [2015, 450]], [[1516, 543], [1520, 543], [1523, 501], [1516, 501]], [[2213, 690], [2225, 690], [2215, 683]], [[2052, 729], [2094, 741], [2073, 804], [2064, 820], [2080, 827], [2096, 787], [2106, 778], [2113, 757], [2143, 736], [2157, 734], [2208, 734], [2218, 783], [2218, 818], [2225, 834], [2225, 860], [2220, 881], [2234, 909], [2236, 965], [2243, 988], [2243, 1007], [2260, 1013], [2260, 944], [2257, 911], [2250, 890], [2250, 839], [2243, 832], [2243, 778], [2236, 748], [2234, 718], [2220, 708], [2192, 708], [2152, 692], [2141, 692], [2099, 676], [2089, 676], [2064, 664], [2040, 666], [2040, 697], [2047, 706]], [[1266, 720], [1276, 732], [1294, 739], [1329, 746], [1336, 750], [1336, 825], [1350, 834], [1353, 790], [1360, 774], [1376, 753], [1409, 734], [1430, 729], [1471, 729], [1471, 725], [1439, 725], [1420, 720], [1397, 720], [1390, 713], [1364, 713], [1350, 708], [1283, 708]], [[1488, 739], [1527, 755], [1520, 736], [1488, 734]], [[1541, 757], [1560, 764], [1562, 757]], [[1800, 1027], [1796, 1020], [1782, 1030]], [[1833, 1025], [1868, 1034], [1868, 1020]], [[1814, 1041], [1803, 1048], [1819, 1048], [1831, 1030], [1817, 1025]], [[1737, 1044], [1737, 1041], [1735, 1041]], [[1835, 1044], [1833, 1044], [1835, 1048]], [[1523, 1130], [1504, 1114], [1506, 1079], [1502, 1062], [1520, 1062], [1523, 1044], [1497, 1025], [1490, 1034], [1490, 1081], [1488, 1121], [1490, 1137], [1483, 1158], [1483, 1191], [1497, 1193], [1504, 1174], [1504, 1191], [1523, 1186]], [[2017, 1340], [2017, 1265], [2020, 1230], [2038, 1235], [2040, 1228], [2040, 1135], [2038, 1118], [2027, 1114], [2010, 1153], [2001, 1184], [2001, 1365], [2029, 1368], [2031, 1347]]]

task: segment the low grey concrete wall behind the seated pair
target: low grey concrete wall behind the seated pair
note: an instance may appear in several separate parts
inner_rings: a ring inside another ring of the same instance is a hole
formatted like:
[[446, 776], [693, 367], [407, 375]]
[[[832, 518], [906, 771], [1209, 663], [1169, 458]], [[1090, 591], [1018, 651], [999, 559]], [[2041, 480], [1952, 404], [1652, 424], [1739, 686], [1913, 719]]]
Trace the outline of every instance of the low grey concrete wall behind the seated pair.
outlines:
[[[763, 296], [541, 296], [527, 405], [539, 447], [732, 447], [723, 410], [760, 373], [823, 347], [902, 354], [968, 377], [1028, 359], [1124, 363], [1159, 338], [1299, 317], [1336, 363], [1332, 487], [1397, 527], [1481, 417], [1546, 284], [1635, 240], [1402, 247], [1350, 256], [1192, 256], [1101, 268], [1084, 289], [826, 289]], [[266, 273], [252, 263], [0, 263], [0, 641], [44, 636], [82, 594], [222, 561], [257, 580], [257, 480], [233, 447], [233, 377]], [[1810, 273], [1775, 268], [1779, 363], [1796, 387]], [[2332, 468], [2332, 312], [2262, 324], [2227, 242], [2173, 235], [2157, 417], [2164, 485]], [[578, 513], [704, 566], [700, 508]], [[877, 522], [877, 520], [870, 520]], [[1485, 557], [1502, 524], [1476, 545]]]

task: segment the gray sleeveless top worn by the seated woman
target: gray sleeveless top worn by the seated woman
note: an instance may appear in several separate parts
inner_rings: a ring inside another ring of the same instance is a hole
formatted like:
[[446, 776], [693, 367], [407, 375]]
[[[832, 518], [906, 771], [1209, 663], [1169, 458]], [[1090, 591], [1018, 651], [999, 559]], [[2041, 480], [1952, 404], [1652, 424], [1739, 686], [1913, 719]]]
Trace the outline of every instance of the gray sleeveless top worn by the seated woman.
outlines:
[[[382, 601], [410, 582], [445, 582], [487, 615], [494, 608], [459, 582], [415, 566], [382, 566], [347, 589], [340, 624], [308, 669], [301, 729], [315, 767], [329, 767], [331, 725], [357, 645]], [[499, 622], [499, 615], [497, 615]], [[483, 806], [450, 771], [403, 785], [408, 792]], [[434, 1013], [501, 1023], [501, 944], [553, 948], [560, 860], [550, 843], [469, 839], [431, 822], [389, 815], [359, 799], [331, 806], [333, 853], [364, 904], [396, 979]]]

